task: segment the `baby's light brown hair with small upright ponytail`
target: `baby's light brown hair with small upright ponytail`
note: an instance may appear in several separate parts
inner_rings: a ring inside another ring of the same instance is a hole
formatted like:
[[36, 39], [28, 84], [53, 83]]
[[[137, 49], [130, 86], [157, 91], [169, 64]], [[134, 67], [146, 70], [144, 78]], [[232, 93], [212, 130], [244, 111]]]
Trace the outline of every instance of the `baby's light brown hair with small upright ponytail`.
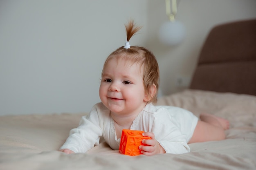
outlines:
[[[133, 20], [125, 25], [127, 41], [141, 29], [139, 26], [135, 26]], [[133, 64], [139, 64], [143, 67], [143, 84], [145, 92], [150, 96], [150, 87], [155, 84], [157, 90], [159, 86], [159, 67], [157, 60], [153, 53], [140, 46], [130, 46], [129, 49], [124, 49], [124, 46], [119, 47], [113, 51], [106, 59], [101, 75], [103, 75], [104, 68], [110, 59], [130, 61]], [[150, 102], [157, 102], [157, 92], [154, 96], [150, 96]]]

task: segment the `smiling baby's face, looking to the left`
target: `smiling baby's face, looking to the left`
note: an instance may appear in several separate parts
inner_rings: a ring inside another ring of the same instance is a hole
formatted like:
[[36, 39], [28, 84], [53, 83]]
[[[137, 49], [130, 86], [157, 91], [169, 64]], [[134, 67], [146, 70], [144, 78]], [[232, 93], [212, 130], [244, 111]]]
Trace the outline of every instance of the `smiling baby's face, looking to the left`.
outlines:
[[146, 105], [142, 68], [113, 58], [106, 64], [99, 88], [101, 102], [117, 115], [139, 113]]

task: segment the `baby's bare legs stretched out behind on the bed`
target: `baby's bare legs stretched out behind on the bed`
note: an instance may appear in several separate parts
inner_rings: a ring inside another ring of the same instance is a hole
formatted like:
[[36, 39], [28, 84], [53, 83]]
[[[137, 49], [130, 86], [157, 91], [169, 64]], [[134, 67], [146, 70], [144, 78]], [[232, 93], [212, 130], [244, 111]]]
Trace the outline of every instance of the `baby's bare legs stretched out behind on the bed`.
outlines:
[[197, 126], [189, 144], [204, 141], [219, 141], [226, 138], [225, 130], [229, 129], [229, 121], [208, 113], [200, 115]]

